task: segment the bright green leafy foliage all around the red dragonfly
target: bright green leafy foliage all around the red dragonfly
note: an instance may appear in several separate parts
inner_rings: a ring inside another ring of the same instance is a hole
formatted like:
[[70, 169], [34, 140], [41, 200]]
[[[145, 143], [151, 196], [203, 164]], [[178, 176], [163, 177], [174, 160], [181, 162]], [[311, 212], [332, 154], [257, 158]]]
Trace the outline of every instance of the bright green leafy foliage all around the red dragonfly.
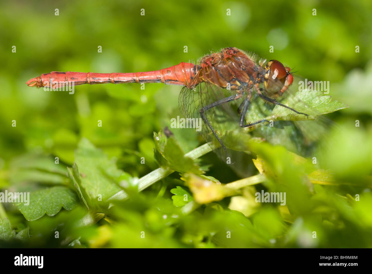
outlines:
[[[60, 16], [53, 5], [0, 9], [0, 192], [30, 193], [28, 206], [0, 203], [1, 247], [372, 247], [368, 1], [292, 1], [283, 10], [276, 1], [264, 9], [259, 1], [151, 1], [141, 17], [142, 2], [79, 1]], [[267, 14], [280, 14], [280, 24], [262, 20]], [[108, 31], [118, 26], [131, 27]], [[222, 133], [242, 172], [208, 153], [194, 129], [165, 130], [181, 116], [180, 87], [81, 85], [68, 94], [24, 84], [50, 71], [167, 68], [226, 46], [330, 81], [329, 94], [279, 98], [309, 117], [253, 95], [246, 120], [273, 124]], [[256, 202], [262, 192], [286, 193], [286, 203]]]

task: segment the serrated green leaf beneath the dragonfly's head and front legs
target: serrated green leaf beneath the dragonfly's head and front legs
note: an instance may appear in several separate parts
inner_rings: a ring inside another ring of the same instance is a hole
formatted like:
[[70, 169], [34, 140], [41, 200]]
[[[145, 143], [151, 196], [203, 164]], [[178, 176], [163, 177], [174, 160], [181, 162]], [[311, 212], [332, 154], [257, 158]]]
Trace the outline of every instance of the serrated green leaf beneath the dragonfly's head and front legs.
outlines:
[[[277, 99], [281, 104], [309, 116], [297, 114], [280, 105], [266, 104], [265, 101], [255, 97], [251, 100], [246, 121], [266, 119], [270, 124], [267, 122], [257, 124], [251, 128], [244, 128], [243, 132], [252, 131], [254, 137], [263, 138], [273, 145], [284, 146], [301, 155], [311, 154], [312, 145], [321, 140], [331, 127], [332, 122], [323, 114], [348, 107], [341, 102], [331, 100], [331, 96], [323, 95], [320, 91], [297, 91], [283, 96]], [[223, 136], [224, 143], [235, 150], [251, 150], [251, 140], [242, 134], [241, 130], [235, 131], [236, 137], [230, 137], [228, 134]]]

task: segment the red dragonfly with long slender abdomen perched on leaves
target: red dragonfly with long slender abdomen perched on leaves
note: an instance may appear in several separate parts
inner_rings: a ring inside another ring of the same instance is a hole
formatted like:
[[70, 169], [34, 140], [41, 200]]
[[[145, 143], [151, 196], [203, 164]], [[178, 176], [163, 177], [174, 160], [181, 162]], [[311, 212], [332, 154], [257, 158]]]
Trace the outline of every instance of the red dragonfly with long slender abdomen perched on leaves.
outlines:
[[[270, 60], [263, 66], [264, 62], [264, 60], [260, 60], [256, 63], [254, 55], [230, 47], [222, 49], [221, 52], [204, 56], [198, 65], [181, 62], [178, 65], [158, 71], [135, 73], [100, 74], [53, 71], [32, 78], [26, 84], [30, 87], [47, 88], [105, 83], [182, 85], [184, 88], [179, 95], [179, 106], [183, 115], [188, 118], [202, 118], [204, 125], [201, 135], [203, 138], [207, 142], [217, 140], [219, 143], [217, 145], [221, 146], [228, 156], [228, 150], [221, 137], [222, 129], [215, 129], [215, 126], [221, 121], [220, 114], [231, 112], [231, 108], [226, 107], [227, 103], [239, 102], [237, 108], [239, 115], [236, 115], [235, 112], [233, 116], [240, 116], [239, 120], [236, 119], [235, 121], [241, 128], [268, 122], [266, 119], [261, 119], [245, 123], [253, 91], [256, 91], [258, 97], [266, 102], [280, 105], [296, 114], [308, 116], [308, 114], [276, 101], [292, 85], [291, 69], [276, 60]], [[214, 111], [211, 111], [211, 109]], [[225, 120], [225, 124], [230, 122]], [[214, 140], [212, 140], [211, 133], [215, 136]]]

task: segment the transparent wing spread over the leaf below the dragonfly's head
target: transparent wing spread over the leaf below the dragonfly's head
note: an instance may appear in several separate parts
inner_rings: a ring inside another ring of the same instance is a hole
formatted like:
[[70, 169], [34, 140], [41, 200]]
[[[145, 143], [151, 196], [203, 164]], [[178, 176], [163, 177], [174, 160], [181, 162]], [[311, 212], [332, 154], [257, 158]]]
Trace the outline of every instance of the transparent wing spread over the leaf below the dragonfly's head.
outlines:
[[[332, 112], [327, 109], [330, 97], [318, 90], [303, 88], [304, 79], [294, 77], [294, 83], [277, 101], [303, 114], [273, 105], [260, 100], [257, 95], [252, 97], [247, 121], [257, 121], [265, 118], [269, 122], [249, 129], [255, 137], [264, 138], [274, 145], [285, 146], [288, 150], [303, 157], [313, 155], [319, 141], [325, 138], [327, 131], [334, 123], [322, 114]], [[337, 107], [336, 107], [337, 109]]]

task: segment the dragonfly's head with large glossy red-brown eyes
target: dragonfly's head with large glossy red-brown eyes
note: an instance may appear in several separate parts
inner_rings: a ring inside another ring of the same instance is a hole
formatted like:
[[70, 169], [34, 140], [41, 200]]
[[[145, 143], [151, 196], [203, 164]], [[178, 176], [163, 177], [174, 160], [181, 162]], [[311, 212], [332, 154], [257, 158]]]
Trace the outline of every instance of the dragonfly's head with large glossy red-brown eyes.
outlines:
[[283, 66], [279, 61], [270, 60], [266, 64], [265, 69], [265, 89], [272, 97], [279, 97], [292, 85], [293, 76], [290, 72], [291, 69]]

